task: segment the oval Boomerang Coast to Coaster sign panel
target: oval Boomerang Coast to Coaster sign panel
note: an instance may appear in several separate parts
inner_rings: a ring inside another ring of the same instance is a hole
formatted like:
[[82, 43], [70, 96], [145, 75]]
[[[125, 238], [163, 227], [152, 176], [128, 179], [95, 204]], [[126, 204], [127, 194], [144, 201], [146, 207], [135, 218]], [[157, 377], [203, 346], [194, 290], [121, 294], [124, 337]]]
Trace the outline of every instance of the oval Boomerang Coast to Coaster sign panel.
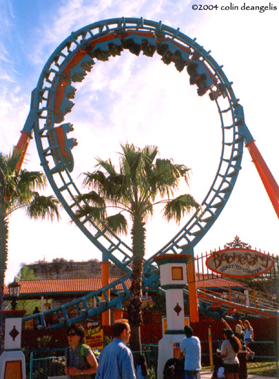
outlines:
[[205, 264], [217, 274], [246, 278], [269, 271], [273, 267], [273, 259], [256, 250], [236, 248], [211, 253]]

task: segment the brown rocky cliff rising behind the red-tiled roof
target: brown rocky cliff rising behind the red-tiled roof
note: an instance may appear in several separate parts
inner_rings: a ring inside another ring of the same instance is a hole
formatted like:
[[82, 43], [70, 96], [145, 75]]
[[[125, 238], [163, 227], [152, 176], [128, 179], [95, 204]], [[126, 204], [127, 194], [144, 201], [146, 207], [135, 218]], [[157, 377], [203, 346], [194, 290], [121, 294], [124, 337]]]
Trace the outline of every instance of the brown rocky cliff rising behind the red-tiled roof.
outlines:
[[[74, 262], [63, 258], [56, 258], [52, 262], [39, 261], [27, 265], [33, 270], [39, 279], [63, 279], [63, 278], [100, 278], [101, 262], [99, 260], [87, 260]], [[110, 263], [110, 276], [123, 276], [125, 272], [116, 265]]]

